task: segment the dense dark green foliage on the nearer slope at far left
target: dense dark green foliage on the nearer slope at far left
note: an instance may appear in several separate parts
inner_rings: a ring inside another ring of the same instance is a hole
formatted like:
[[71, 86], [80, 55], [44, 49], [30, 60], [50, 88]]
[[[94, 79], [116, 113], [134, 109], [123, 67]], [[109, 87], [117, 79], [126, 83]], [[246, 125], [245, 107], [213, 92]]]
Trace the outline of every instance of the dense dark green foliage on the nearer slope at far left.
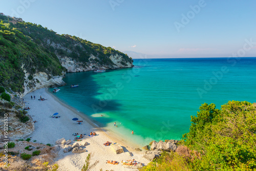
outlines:
[[3, 15], [0, 15], [0, 49], [0, 84], [13, 91], [24, 91], [24, 70], [30, 74], [44, 71], [53, 76], [63, 71], [56, 55], [35, 44]]

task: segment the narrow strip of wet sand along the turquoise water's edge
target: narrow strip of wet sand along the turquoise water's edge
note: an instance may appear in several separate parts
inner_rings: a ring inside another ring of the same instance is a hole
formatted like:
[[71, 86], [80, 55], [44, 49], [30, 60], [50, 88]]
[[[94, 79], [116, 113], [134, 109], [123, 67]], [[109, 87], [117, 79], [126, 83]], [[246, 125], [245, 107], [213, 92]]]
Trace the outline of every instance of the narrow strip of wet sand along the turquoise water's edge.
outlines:
[[[109, 131], [109, 130], [105, 130], [104, 127], [99, 126], [98, 124], [96, 124], [95, 122], [93, 122], [86, 114], [82, 113], [82, 112], [78, 112], [76, 108], [74, 108], [73, 106], [66, 104], [65, 102], [62, 102], [58, 97], [54, 96], [52, 93], [50, 93], [49, 88], [45, 88], [45, 92], [47, 94], [49, 94], [50, 96], [53, 97], [53, 99], [58, 102], [60, 105], [64, 106], [65, 108], [70, 109], [72, 112], [74, 112], [76, 115], [78, 115], [79, 117], [81, 117], [83, 120], [85, 120], [86, 122], [88, 122], [92, 127], [94, 127], [95, 129], [97, 129], [97, 131], [102, 132], [103, 134], [105, 134], [106, 136], [108, 136], [110, 139], [114, 140], [114, 142], [120, 142], [120, 144], [123, 144], [123, 146], [126, 147], [130, 147], [134, 150], [134, 148], [142, 148], [142, 146], [140, 146], [139, 144], [136, 143], [132, 143], [132, 142], [127, 142], [125, 140], [122, 140], [123, 137], [120, 137], [118, 135], [115, 135], [114, 132]], [[117, 138], [114, 138], [117, 137]]]

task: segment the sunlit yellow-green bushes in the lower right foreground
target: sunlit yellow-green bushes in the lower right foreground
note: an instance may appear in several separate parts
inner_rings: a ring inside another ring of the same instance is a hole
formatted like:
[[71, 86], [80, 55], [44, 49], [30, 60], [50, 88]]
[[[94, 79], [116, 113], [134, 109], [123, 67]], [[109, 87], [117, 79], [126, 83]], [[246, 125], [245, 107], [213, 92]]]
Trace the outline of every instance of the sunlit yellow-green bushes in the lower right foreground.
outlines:
[[205, 103], [191, 122], [183, 135], [190, 157], [173, 162], [165, 154], [143, 170], [256, 170], [255, 103], [229, 101], [220, 110]]

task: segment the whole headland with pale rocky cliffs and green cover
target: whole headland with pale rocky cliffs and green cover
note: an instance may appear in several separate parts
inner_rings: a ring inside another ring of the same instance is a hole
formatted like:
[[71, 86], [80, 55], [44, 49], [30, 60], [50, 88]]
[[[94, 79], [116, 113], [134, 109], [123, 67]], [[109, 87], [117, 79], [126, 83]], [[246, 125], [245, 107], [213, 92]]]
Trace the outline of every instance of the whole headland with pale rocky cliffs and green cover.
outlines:
[[111, 47], [41, 25], [0, 15], [0, 86], [21, 98], [34, 90], [61, 86], [66, 72], [133, 67], [131, 57]]

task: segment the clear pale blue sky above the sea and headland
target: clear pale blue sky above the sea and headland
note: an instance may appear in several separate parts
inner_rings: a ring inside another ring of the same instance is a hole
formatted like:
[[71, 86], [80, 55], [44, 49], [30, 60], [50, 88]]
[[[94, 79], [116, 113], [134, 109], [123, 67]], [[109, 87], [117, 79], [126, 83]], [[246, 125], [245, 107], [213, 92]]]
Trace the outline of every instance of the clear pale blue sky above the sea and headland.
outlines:
[[0, 12], [119, 51], [256, 56], [255, 0], [0, 0]]

